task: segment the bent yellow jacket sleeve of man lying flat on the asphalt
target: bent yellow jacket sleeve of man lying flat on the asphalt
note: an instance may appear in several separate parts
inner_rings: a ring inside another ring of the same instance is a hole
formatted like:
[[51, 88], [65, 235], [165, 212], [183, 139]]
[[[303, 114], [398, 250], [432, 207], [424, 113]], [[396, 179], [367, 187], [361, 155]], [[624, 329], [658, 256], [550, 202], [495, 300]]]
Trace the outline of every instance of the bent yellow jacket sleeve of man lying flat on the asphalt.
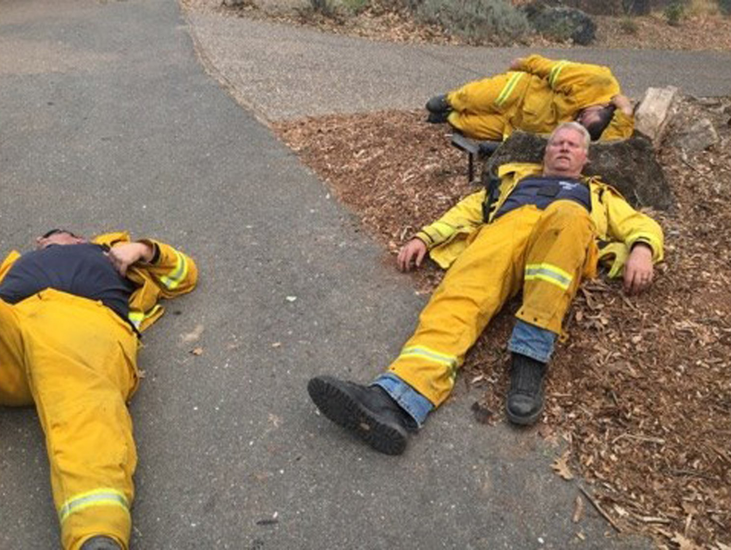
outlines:
[[198, 269], [190, 256], [157, 240], [142, 239], [140, 242], [153, 247], [155, 254], [149, 264], [139, 264], [137, 267], [150, 275], [159, 286], [162, 297], [173, 298], [195, 288]]

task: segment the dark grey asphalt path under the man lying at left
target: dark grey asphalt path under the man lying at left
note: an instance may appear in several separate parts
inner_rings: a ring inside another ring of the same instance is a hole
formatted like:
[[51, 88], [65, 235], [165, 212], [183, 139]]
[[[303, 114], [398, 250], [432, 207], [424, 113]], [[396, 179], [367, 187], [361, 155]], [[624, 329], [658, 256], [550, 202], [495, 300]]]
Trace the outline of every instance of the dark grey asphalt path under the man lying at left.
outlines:
[[[270, 49], [281, 47], [259, 25]], [[292, 45], [301, 32], [291, 29]], [[245, 51], [241, 63], [280, 63], [259, 55]], [[447, 66], [457, 54], [439, 55]], [[295, 88], [287, 97], [330, 104], [327, 90], [340, 85], [307, 67], [280, 68]], [[375, 67], [363, 61], [361, 72], [385, 83]], [[479, 392], [463, 384], [399, 458], [315, 413], [308, 378], [368, 381], [398, 352], [423, 297], [257, 121], [274, 116], [262, 106], [282, 90], [242, 88], [254, 111], [241, 108], [202, 69], [171, 0], [0, 0], [1, 248], [27, 249], [55, 226], [131, 229], [180, 246], [201, 271], [199, 289], [145, 334], [132, 546], [649, 548], [591, 507], [574, 524], [580, 481], [551, 472], [559, 449], [532, 430], [477, 424], [469, 406]], [[0, 549], [58, 546], [33, 410], [0, 410], [0, 525]]]

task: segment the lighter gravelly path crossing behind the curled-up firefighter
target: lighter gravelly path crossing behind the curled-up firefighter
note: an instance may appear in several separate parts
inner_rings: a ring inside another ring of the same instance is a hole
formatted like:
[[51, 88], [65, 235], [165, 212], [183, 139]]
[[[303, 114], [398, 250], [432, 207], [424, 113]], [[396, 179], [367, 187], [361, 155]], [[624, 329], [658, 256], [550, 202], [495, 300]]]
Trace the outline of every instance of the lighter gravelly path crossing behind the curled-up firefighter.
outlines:
[[210, 13], [188, 19], [213, 75], [268, 120], [421, 108], [437, 93], [504, 72], [513, 58], [536, 51], [611, 66], [636, 99], [666, 85], [696, 96], [731, 95], [731, 52], [407, 45]]

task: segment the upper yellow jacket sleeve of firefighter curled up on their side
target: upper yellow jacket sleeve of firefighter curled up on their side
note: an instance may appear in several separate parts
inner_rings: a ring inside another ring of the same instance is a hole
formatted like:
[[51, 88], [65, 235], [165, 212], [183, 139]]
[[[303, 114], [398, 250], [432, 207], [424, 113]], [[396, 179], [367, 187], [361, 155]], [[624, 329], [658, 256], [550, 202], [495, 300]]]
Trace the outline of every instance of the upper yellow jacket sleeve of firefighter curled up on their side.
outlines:
[[553, 61], [534, 54], [523, 58], [518, 68], [544, 78], [553, 91], [571, 97], [580, 109], [608, 103], [620, 92], [616, 78], [601, 65]]

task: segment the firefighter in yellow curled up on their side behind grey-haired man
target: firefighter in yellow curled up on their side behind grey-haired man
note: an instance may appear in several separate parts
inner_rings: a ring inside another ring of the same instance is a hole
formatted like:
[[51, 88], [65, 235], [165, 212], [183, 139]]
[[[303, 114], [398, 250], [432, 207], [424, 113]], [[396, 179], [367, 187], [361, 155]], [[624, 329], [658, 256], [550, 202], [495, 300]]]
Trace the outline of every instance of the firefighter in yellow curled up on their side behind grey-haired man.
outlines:
[[448, 122], [477, 140], [502, 141], [516, 129], [548, 134], [568, 121], [585, 126], [594, 141], [624, 139], [635, 128], [632, 104], [610, 69], [538, 55], [433, 97], [426, 108], [428, 121]]

